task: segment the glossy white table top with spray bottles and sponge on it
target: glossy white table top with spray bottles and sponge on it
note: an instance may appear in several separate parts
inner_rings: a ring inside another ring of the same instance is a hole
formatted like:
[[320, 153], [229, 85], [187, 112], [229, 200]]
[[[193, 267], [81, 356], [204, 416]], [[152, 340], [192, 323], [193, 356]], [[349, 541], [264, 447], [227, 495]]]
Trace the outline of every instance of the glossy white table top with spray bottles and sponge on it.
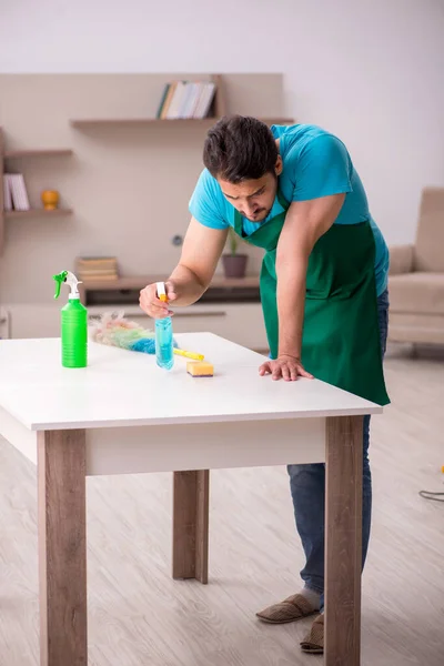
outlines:
[[88, 367], [64, 369], [59, 339], [0, 341], [0, 407], [32, 431], [382, 412], [317, 380], [261, 377], [263, 356], [211, 333], [176, 339], [205, 354], [214, 377], [191, 377], [179, 356], [168, 372], [154, 356], [91, 342]]

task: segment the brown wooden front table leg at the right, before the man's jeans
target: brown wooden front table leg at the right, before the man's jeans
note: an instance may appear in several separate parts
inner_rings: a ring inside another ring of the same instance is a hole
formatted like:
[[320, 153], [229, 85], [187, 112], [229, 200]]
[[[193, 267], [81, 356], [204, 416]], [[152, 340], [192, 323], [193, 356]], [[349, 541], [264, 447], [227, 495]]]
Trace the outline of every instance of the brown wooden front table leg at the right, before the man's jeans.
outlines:
[[327, 418], [325, 454], [325, 666], [359, 666], [363, 417]]

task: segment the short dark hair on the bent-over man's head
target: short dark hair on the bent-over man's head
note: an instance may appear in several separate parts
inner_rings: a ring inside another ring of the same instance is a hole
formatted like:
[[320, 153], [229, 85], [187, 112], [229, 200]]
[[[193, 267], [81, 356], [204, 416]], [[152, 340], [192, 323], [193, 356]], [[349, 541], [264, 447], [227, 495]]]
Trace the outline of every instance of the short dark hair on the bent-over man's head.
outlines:
[[230, 183], [274, 174], [278, 147], [270, 128], [256, 118], [224, 117], [213, 125], [203, 147], [203, 163], [214, 178]]

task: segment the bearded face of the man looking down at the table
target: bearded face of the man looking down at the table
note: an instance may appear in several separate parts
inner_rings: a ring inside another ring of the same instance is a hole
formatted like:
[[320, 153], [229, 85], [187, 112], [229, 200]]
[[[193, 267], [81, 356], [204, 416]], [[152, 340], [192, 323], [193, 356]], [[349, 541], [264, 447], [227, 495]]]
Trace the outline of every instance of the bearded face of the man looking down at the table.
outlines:
[[278, 175], [281, 164], [276, 164], [276, 173], [265, 173], [255, 180], [245, 180], [240, 183], [230, 183], [218, 178], [223, 195], [243, 218], [251, 222], [262, 222], [273, 208], [278, 190]]

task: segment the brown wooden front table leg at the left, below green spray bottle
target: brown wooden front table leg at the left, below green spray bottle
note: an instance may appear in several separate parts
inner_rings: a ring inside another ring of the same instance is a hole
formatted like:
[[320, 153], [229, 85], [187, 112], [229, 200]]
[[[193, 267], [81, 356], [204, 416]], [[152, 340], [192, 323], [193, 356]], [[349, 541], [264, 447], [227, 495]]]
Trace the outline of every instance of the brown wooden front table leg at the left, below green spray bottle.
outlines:
[[38, 438], [40, 665], [87, 666], [85, 432]]

